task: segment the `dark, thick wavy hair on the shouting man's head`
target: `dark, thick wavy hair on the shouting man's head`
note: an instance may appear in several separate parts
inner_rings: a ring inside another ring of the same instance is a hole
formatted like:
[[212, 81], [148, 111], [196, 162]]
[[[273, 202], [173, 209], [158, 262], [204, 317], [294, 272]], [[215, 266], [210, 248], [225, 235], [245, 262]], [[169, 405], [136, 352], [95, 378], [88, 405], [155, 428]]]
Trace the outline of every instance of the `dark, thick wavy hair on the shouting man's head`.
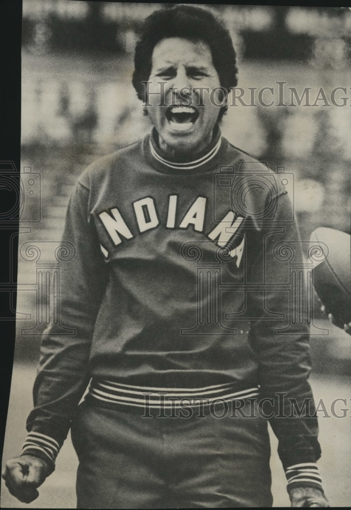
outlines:
[[[223, 22], [207, 9], [180, 4], [159, 9], [145, 19], [134, 55], [132, 84], [139, 99], [145, 101], [145, 87], [152, 67], [152, 53], [156, 44], [169, 37], [181, 37], [208, 44], [212, 61], [218, 72], [221, 87], [229, 93], [237, 84], [236, 54], [229, 31]], [[218, 121], [227, 111], [221, 107]]]

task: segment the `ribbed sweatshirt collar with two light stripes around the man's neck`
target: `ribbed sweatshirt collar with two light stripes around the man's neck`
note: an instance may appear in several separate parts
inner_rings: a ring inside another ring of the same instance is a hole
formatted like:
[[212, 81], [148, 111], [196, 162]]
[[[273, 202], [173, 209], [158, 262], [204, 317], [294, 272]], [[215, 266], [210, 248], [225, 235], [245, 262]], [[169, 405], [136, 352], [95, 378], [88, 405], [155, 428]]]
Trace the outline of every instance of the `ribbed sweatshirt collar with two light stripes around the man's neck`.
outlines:
[[144, 138], [143, 151], [148, 161], [156, 170], [165, 173], [198, 173], [211, 170], [218, 164], [219, 158], [223, 155], [228, 142], [222, 138], [218, 124], [213, 130], [211, 143], [194, 158], [171, 159], [166, 156], [158, 146], [158, 134], [155, 128]]

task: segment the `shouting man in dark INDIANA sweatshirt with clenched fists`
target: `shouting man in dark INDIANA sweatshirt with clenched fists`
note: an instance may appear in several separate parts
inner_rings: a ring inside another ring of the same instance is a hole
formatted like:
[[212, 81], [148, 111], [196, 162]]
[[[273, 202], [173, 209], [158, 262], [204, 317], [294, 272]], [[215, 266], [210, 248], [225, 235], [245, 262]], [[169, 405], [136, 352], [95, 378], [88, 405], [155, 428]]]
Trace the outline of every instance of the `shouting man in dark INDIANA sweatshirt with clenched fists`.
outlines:
[[[134, 62], [153, 130], [77, 181], [60, 295], [74, 335], [45, 331], [7, 486], [35, 499], [71, 426], [79, 508], [271, 506], [269, 416], [292, 506], [328, 506], [308, 329], [281, 287], [281, 243], [302, 261], [290, 201], [218, 124], [236, 85], [229, 33], [198, 7], [156, 11]], [[260, 172], [272, 189], [256, 186]], [[312, 402], [308, 416], [283, 394]]]

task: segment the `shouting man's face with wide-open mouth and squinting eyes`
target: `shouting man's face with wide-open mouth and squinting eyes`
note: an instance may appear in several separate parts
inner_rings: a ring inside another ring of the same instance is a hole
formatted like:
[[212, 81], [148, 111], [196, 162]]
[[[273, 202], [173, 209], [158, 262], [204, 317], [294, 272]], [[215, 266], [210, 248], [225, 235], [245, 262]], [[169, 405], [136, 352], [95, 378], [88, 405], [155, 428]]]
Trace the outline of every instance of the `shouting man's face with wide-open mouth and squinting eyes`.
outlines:
[[[213, 100], [207, 90], [194, 91], [220, 87], [208, 45], [178, 37], [159, 41], [152, 54], [149, 82], [147, 110], [161, 148], [170, 155], [186, 155], [205, 148], [220, 113], [219, 106], [215, 106], [219, 105], [218, 94]], [[184, 106], [189, 104], [193, 106]]]

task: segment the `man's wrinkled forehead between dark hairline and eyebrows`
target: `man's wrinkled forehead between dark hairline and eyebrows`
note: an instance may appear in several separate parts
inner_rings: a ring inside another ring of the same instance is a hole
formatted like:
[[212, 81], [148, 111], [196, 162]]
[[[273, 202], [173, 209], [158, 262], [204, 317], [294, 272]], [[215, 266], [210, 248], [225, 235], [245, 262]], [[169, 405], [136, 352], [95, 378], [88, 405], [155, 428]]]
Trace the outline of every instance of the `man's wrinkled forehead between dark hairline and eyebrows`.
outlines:
[[169, 37], [158, 41], [152, 52], [152, 67], [179, 65], [213, 67], [210, 47], [200, 39]]

